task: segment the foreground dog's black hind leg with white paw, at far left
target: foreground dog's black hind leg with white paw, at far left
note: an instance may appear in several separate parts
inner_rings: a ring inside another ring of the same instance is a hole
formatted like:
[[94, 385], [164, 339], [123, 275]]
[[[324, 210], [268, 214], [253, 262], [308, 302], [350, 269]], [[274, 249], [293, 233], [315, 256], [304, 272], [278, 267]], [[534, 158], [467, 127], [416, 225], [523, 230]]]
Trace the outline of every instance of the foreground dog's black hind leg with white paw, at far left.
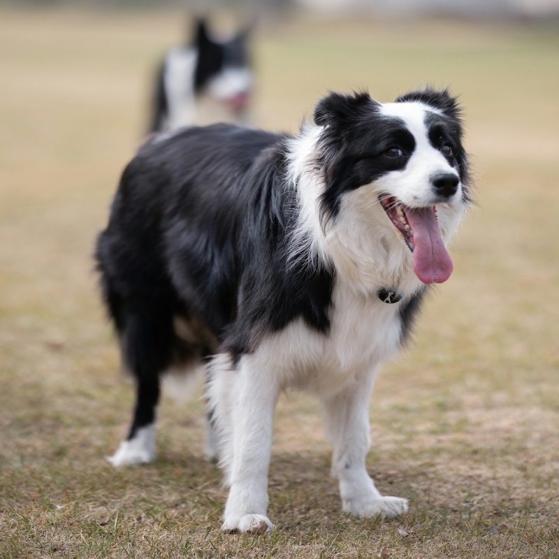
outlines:
[[108, 458], [115, 466], [150, 462], [155, 457], [159, 376], [169, 367], [173, 349], [173, 317], [166, 301], [126, 302], [119, 318], [122, 361], [136, 379], [136, 404], [128, 437]]

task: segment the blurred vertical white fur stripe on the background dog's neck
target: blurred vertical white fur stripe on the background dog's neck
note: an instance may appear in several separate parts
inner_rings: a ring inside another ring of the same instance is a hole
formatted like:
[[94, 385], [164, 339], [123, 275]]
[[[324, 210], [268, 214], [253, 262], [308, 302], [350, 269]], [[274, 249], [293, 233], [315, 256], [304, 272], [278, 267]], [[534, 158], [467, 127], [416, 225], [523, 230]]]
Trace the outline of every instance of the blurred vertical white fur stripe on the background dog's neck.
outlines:
[[194, 124], [194, 71], [196, 51], [192, 48], [172, 50], [165, 64], [164, 83], [167, 93], [168, 120], [166, 129]]

